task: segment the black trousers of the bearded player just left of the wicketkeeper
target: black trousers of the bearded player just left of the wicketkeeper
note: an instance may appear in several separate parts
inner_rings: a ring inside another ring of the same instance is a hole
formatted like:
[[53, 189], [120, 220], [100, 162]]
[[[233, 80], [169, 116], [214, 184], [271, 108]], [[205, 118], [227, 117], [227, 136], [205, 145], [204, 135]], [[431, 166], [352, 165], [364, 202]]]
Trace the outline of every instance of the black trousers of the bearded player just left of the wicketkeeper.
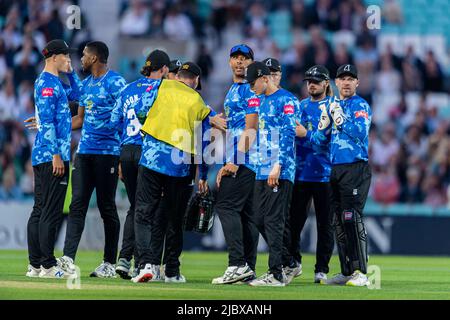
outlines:
[[285, 230], [283, 265], [302, 263], [300, 235], [314, 200], [317, 222], [317, 249], [314, 272], [329, 272], [333, 254], [333, 215], [330, 208], [331, 187], [328, 182], [295, 182], [292, 192], [289, 223]]

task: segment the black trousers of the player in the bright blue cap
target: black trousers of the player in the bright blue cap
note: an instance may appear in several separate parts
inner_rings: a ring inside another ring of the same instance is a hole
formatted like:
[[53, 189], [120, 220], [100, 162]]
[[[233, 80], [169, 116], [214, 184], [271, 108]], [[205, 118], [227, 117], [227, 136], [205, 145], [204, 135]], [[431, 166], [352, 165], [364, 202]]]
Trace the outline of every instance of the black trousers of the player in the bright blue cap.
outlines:
[[253, 211], [255, 173], [241, 165], [236, 177], [222, 178], [214, 206], [228, 248], [228, 266], [246, 263], [255, 270], [258, 229]]

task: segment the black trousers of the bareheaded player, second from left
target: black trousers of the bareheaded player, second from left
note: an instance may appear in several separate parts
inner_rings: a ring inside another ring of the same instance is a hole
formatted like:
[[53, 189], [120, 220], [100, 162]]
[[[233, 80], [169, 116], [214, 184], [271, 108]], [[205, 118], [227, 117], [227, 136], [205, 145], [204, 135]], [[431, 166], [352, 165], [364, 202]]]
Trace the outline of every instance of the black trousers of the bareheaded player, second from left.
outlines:
[[86, 213], [92, 192], [96, 191], [97, 205], [105, 230], [103, 260], [116, 263], [120, 220], [116, 208], [116, 189], [119, 157], [113, 155], [77, 154], [72, 168], [72, 202], [67, 221], [64, 255], [75, 259], [84, 230]]

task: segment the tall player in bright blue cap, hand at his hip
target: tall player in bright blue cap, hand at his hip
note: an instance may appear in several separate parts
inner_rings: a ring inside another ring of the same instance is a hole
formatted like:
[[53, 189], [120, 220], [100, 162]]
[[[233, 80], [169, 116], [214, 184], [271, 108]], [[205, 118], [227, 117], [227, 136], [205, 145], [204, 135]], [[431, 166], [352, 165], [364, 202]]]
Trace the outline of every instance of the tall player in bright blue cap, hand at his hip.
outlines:
[[249, 155], [238, 152], [245, 129], [256, 128], [260, 98], [250, 90], [245, 69], [253, 61], [253, 50], [236, 45], [230, 50], [233, 85], [224, 101], [227, 117], [226, 164], [220, 169], [214, 210], [219, 216], [228, 250], [228, 267], [213, 284], [229, 284], [255, 279], [258, 230], [253, 215], [255, 165]]

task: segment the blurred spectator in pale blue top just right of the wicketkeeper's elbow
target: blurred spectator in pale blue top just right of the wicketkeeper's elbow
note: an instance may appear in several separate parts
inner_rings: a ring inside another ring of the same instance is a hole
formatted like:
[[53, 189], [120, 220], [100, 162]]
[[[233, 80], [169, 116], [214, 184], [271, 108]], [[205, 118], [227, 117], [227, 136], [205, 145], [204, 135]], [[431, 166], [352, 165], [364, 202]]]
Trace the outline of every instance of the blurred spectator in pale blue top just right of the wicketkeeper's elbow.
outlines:
[[389, 122], [385, 124], [380, 138], [371, 141], [372, 144], [372, 164], [378, 167], [387, 166], [390, 159], [397, 155], [400, 144], [395, 136], [395, 124]]

